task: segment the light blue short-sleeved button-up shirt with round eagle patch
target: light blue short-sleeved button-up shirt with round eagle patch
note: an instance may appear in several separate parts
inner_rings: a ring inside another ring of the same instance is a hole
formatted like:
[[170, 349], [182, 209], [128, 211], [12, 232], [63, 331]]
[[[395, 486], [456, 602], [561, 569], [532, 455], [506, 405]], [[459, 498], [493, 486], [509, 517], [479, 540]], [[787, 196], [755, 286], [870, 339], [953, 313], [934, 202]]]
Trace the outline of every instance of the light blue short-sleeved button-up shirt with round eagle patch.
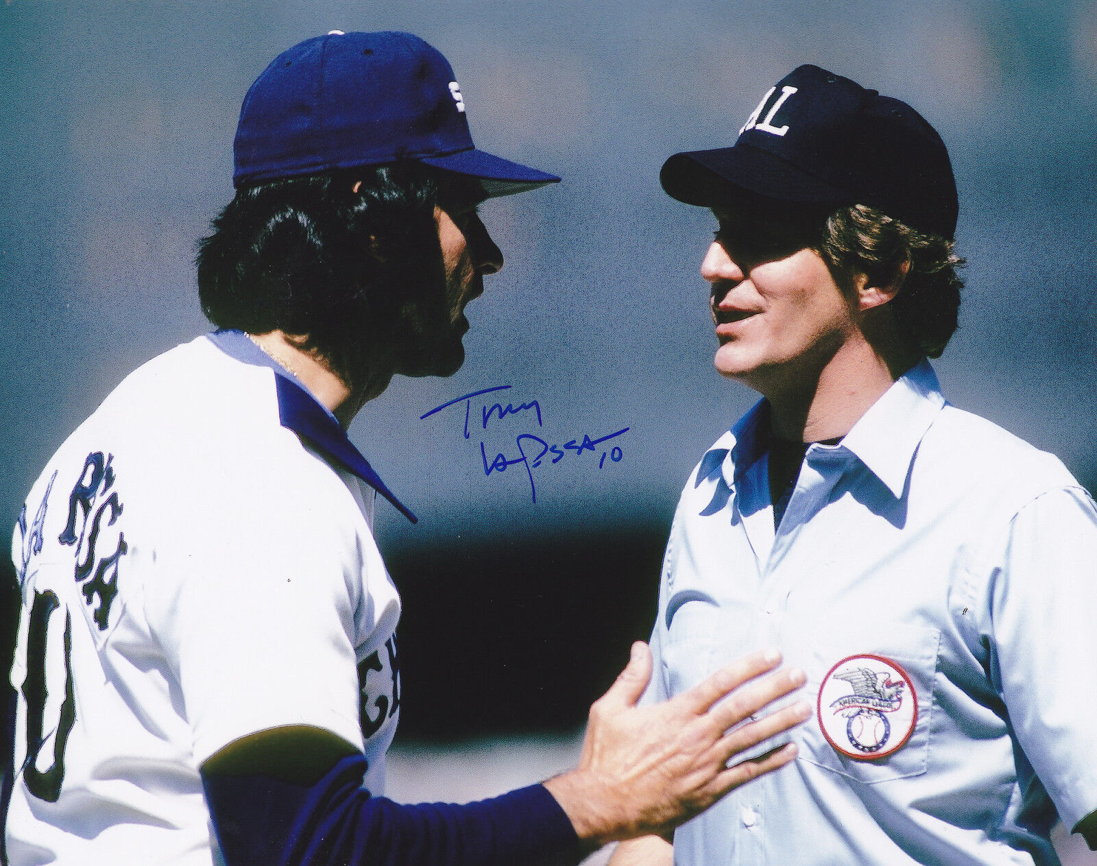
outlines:
[[796, 761], [675, 834], [677, 864], [1054, 864], [1097, 809], [1097, 511], [923, 361], [807, 449], [777, 531], [765, 402], [704, 456], [667, 544], [647, 699], [779, 646]]

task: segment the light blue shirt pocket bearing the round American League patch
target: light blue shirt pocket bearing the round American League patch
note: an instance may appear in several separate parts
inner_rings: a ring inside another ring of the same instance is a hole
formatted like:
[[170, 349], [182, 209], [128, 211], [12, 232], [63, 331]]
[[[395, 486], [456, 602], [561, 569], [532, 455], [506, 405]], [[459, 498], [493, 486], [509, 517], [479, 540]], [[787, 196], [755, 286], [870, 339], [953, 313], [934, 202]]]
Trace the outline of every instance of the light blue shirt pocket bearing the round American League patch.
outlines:
[[866, 785], [925, 773], [939, 648], [937, 629], [898, 622], [804, 634], [815, 715], [799, 731], [800, 760]]

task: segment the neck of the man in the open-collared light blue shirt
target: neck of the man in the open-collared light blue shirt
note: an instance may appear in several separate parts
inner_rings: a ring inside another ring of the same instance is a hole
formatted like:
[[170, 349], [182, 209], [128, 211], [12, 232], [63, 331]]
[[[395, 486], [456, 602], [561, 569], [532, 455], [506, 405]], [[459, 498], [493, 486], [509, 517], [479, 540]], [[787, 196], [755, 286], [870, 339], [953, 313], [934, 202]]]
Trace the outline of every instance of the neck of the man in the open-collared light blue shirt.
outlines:
[[845, 436], [915, 360], [889, 362], [867, 341], [845, 344], [817, 374], [764, 392], [773, 432], [801, 442]]

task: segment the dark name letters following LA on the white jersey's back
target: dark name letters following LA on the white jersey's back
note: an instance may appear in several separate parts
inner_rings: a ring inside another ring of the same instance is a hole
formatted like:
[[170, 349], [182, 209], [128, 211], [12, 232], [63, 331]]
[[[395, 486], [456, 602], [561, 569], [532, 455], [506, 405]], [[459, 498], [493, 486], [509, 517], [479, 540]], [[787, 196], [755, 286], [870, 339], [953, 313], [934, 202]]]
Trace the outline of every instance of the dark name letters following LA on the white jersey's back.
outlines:
[[106, 630], [111, 604], [118, 592], [118, 560], [129, 549], [125, 533], [118, 529], [116, 543], [108, 542], [106, 546], [106, 549], [113, 547], [114, 552], [99, 555], [103, 529], [114, 527], [123, 510], [118, 493], [113, 490], [116, 481], [111, 466], [113, 460], [113, 454], [104, 457], [102, 451], [88, 454], [69, 496], [68, 521], [57, 537], [61, 544], [76, 548], [73, 577], [83, 584], [80, 588], [89, 607], [93, 607], [97, 599], [99, 601], [92, 619], [100, 631]]

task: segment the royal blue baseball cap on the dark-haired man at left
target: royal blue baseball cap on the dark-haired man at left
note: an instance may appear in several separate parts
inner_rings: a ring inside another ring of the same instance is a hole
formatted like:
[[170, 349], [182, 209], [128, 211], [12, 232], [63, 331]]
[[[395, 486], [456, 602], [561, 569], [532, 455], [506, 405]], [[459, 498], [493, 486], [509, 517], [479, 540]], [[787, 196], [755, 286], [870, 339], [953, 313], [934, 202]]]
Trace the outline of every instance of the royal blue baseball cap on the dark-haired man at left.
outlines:
[[256, 79], [233, 144], [237, 189], [410, 159], [479, 181], [487, 196], [559, 180], [477, 150], [450, 63], [410, 33], [305, 40]]

